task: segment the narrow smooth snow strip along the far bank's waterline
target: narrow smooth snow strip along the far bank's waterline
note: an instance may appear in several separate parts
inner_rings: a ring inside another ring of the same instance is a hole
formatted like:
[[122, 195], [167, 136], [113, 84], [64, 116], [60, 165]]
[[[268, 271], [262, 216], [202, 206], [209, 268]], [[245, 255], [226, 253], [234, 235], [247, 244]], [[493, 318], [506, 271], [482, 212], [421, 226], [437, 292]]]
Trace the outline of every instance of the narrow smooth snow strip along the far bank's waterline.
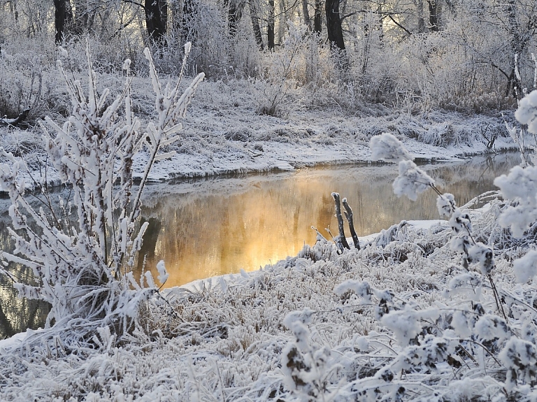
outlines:
[[[461, 161], [476, 155], [517, 150], [511, 138], [498, 138], [494, 150], [487, 149], [484, 143], [459, 144], [444, 148], [409, 138], [403, 140], [403, 144], [417, 162]], [[147, 162], [148, 155], [144, 152], [134, 158], [134, 171], [138, 177], [141, 177]], [[169, 159], [158, 161], [152, 167], [149, 180], [166, 182], [219, 175], [294, 171], [297, 168], [313, 166], [371, 163], [382, 162], [371, 161], [371, 150], [364, 144], [341, 142], [334, 145], [303, 145], [268, 141], [263, 143], [262, 152], [259, 151], [251, 157], [232, 152], [211, 155], [177, 153]], [[43, 183], [43, 174], [43, 171], [20, 172], [20, 177], [24, 178], [27, 189], [31, 190]], [[46, 178], [51, 187], [61, 185], [55, 171], [49, 170]]]

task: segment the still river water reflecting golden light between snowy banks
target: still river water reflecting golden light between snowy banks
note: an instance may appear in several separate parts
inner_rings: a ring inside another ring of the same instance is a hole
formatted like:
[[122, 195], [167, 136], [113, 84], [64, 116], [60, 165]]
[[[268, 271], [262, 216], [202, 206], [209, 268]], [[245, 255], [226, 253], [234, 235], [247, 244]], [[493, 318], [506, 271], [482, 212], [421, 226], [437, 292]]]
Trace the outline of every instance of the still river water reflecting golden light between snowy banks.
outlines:
[[[422, 166], [442, 192], [461, 206], [490, 189], [494, 178], [520, 162], [517, 154], [474, 157], [464, 162]], [[436, 194], [417, 201], [398, 198], [392, 182], [396, 165], [330, 166], [285, 173], [182, 180], [150, 185], [143, 199], [149, 222], [138, 269], [153, 269], [164, 259], [166, 287], [241, 269], [252, 271], [296, 255], [324, 236], [337, 234], [331, 192], [346, 197], [355, 215], [358, 236], [372, 234], [401, 220], [438, 219]], [[0, 245], [13, 250], [6, 227], [8, 200], [0, 200]], [[29, 272], [17, 269], [17, 275]], [[48, 307], [17, 299], [0, 276], [0, 338], [42, 326]]]

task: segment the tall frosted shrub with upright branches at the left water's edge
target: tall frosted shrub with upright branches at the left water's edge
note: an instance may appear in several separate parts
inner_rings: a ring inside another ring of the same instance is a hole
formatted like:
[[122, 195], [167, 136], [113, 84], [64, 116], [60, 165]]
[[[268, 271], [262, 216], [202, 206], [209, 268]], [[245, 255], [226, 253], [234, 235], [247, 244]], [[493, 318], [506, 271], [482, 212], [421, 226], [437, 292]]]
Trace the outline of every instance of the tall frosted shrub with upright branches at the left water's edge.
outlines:
[[[91, 343], [90, 334], [101, 326], [110, 327], [119, 340], [133, 331], [140, 304], [157, 291], [150, 273], [138, 281], [132, 272], [147, 228], [145, 223], [136, 229], [141, 194], [152, 165], [170, 156], [162, 148], [178, 138], [178, 120], [185, 115], [203, 73], [181, 94], [180, 80], [163, 88], [148, 49], [145, 57], [157, 110], [157, 122], [150, 122], [145, 130], [133, 112], [128, 59], [123, 65], [124, 91], [111, 103], [107, 103], [108, 90], [97, 95], [89, 46], [88, 96], [80, 81], [69, 78], [58, 63], [73, 112], [62, 127], [47, 118], [53, 131], [43, 130], [50, 164], [71, 190], [59, 199], [59, 212], [52, 208], [46, 186], [41, 194], [43, 207], [31, 206], [24, 180], [19, 178], [24, 161], [3, 151], [10, 163], [0, 166], [0, 185], [11, 199], [13, 229], [9, 231], [16, 247], [13, 254], [2, 252], [1, 259], [3, 264], [10, 261], [31, 268], [36, 283], [21, 282], [3, 268], [0, 272], [13, 280], [20, 296], [50, 302], [47, 326], [54, 324], [59, 336], [69, 341]], [[141, 152], [146, 155], [145, 169], [141, 180], [135, 181], [133, 158]], [[46, 175], [42, 179], [46, 181]], [[69, 216], [71, 210], [75, 220]], [[157, 268], [162, 283], [164, 264]], [[67, 327], [71, 330], [62, 332]]]

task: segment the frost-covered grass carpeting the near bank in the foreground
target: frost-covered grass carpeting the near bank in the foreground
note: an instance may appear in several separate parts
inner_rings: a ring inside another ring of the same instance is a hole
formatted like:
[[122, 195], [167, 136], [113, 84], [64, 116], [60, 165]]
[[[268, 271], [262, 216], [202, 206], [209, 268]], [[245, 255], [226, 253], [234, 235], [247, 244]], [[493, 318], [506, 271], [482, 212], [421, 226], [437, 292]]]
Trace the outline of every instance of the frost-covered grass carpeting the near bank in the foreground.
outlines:
[[[472, 220], [479, 238], [503, 239], [496, 241], [494, 281], [505, 299], [506, 335], [494, 329], [487, 338], [480, 329], [487, 322], [475, 324], [496, 314], [494, 297], [450, 250], [447, 222], [408, 224], [390, 243], [362, 239], [361, 250], [338, 255], [320, 241], [260, 271], [169, 289], [166, 303], [148, 303], [144, 331], [120, 345], [104, 331], [96, 350], [64, 350], [58, 336], [48, 350], [4, 351], [2, 398], [376, 401], [399, 393], [401, 400], [522, 400], [506, 394], [499, 353], [510, 333], [534, 336], [534, 285], [513, 287], [511, 261], [522, 243], [494, 224], [504, 208], [494, 201]], [[382, 312], [394, 321], [379, 322]]]

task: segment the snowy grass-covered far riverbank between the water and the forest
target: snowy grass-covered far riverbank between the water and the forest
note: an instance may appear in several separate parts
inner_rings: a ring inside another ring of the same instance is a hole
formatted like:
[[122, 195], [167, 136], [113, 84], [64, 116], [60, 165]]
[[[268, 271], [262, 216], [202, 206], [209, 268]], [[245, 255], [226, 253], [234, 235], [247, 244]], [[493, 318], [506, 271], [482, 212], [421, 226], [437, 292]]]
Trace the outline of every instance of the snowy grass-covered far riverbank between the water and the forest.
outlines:
[[[122, 78], [107, 77], [112, 93], [122, 88]], [[293, 103], [282, 117], [257, 113], [259, 99], [245, 80], [228, 85], [203, 82], [185, 119], [178, 141], [167, 147], [175, 152], [153, 166], [150, 179], [204, 177], [266, 171], [285, 171], [320, 164], [348, 164], [371, 161], [368, 141], [390, 132], [403, 141], [415, 158], [424, 161], [457, 159], [494, 150], [514, 149], [505, 122], [513, 124], [513, 112], [465, 115], [441, 110], [410, 113], [382, 104], [364, 103], [359, 109]], [[148, 79], [135, 78], [133, 102], [145, 129], [155, 120], [152, 88]], [[57, 115], [58, 124], [64, 117]], [[47, 124], [44, 124], [47, 127]], [[50, 127], [48, 127], [50, 129]], [[42, 131], [1, 127], [0, 146], [27, 161], [34, 187], [47, 176], [59, 183], [52, 168], [45, 168]], [[491, 138], [493, 146], [487, 148]], [[139, 174], [148, 155], [141, 152], [134, 160]], [[34, 182], [35, 180], [35, 182]]]

